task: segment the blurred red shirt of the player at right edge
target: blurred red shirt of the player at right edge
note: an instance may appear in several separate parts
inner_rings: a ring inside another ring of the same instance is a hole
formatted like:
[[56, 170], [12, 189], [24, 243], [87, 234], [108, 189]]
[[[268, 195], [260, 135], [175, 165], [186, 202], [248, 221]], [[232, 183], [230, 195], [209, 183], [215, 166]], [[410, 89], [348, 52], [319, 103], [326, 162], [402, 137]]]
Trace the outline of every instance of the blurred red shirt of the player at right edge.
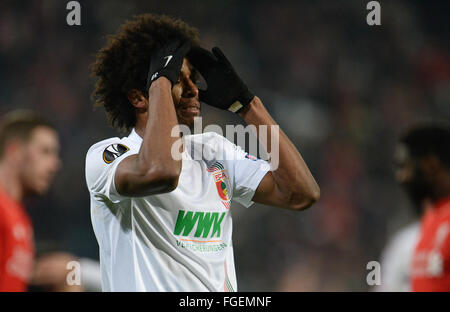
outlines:
[[422, 218], [411, 278], [413, 291], [450, 291], [450, 197]]

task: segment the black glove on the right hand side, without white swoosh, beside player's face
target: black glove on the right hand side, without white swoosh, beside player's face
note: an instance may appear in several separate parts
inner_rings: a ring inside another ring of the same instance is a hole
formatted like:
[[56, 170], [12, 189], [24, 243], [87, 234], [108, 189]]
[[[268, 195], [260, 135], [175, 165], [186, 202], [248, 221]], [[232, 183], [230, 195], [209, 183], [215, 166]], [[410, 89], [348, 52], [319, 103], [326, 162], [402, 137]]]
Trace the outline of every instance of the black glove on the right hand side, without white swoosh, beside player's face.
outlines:
[[186, 57], [208, 85], [205, 91], [199, 90], [200, 101], [237, 113], [253, 99], [254, 94], [248, 90], [218, 47], [213, 48], [211, 53], [194, 46]]

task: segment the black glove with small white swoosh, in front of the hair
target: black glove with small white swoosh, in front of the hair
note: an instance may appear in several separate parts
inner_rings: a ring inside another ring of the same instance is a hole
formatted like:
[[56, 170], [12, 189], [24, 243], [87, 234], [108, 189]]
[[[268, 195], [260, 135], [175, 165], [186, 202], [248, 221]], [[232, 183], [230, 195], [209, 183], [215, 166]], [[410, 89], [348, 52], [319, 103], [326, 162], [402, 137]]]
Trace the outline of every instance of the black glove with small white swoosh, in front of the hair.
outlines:
[[190, 48], [189, 42], [181, 43], [179, 40], [176, 40], [156, 49], [150, 59], [147, 90], [153, 81], [162, 76], [169, 79], [173, 86], [180, 77], [183, 58]]

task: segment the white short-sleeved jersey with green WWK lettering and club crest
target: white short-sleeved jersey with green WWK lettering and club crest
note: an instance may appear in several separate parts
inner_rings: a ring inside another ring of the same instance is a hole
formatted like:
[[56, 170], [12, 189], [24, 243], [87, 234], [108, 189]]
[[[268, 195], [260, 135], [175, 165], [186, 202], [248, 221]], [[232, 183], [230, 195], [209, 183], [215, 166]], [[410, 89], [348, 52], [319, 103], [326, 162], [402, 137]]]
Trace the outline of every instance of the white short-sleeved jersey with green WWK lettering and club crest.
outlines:
[[236, 291], [230, 205], [249, 207], [267, 162], [213, 132], [183, 137], [177, 188], [118, 194], [119, 163], [137, 154], [135, 132], [94, 144], [86, 156], [91, 219], [103, 291]]

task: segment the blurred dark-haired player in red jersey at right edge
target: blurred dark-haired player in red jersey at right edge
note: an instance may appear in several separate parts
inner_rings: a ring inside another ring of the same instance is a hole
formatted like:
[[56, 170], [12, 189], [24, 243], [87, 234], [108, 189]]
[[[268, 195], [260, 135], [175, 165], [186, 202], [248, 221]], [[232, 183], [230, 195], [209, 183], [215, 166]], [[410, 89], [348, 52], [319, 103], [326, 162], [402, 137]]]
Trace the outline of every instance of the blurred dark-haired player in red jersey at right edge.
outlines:
[[450, 129], [411, 129], [396, 151], [398, 182], [426, 207], [411, 261], [413, 291], [450, 291]]

